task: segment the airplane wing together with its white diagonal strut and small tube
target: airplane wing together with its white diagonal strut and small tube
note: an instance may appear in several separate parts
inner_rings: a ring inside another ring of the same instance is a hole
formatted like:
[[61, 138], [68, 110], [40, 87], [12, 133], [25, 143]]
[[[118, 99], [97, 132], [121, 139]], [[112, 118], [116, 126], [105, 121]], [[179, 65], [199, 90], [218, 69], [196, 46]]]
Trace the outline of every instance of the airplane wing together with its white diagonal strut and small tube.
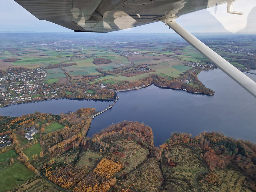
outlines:
[[110, 32], [162, 21], [256, 98], [256, 83], [201, 41], [179, 26], [175, 19], [189, 12], [234, 0], [15, 0], [40, 20], [76, 32]]

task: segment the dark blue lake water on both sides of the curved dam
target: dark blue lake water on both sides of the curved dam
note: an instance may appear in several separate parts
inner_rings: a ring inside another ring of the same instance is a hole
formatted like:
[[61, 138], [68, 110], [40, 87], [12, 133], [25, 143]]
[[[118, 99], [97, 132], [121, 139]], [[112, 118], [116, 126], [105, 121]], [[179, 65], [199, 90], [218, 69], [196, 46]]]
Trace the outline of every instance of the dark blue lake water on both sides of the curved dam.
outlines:
[[[256, 81], [256, 75], [246, 75]], [[202, 131], [220, 131], [226, 136], [256, 142], [256, 99], [219, 69], [202, 71], [198, 78], [215, 94], [193, 94], [155, 85], [119, 92], [119, 99], [113, 108], [91, 121], [87, 136], [92, 137], [112, 123], [128, 120], [150, 126], [156, 146], [175, 131], [192, 135]], [[101, 111], [112, 102], [53, 99], [10, 105], [0, 108], [0, 114], [21, 116], [35, 111], [60, 114], [85, 107], [95, 107]]]

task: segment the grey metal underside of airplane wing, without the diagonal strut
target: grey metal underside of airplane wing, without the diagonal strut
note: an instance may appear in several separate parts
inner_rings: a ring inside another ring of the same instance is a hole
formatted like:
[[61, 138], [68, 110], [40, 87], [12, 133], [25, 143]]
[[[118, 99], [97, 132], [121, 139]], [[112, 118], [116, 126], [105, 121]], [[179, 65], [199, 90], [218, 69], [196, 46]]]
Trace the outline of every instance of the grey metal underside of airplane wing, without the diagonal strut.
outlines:
[[175, 18], [227, 0], [15, 0], [40, 20], [80, 32], [110, 32]]

